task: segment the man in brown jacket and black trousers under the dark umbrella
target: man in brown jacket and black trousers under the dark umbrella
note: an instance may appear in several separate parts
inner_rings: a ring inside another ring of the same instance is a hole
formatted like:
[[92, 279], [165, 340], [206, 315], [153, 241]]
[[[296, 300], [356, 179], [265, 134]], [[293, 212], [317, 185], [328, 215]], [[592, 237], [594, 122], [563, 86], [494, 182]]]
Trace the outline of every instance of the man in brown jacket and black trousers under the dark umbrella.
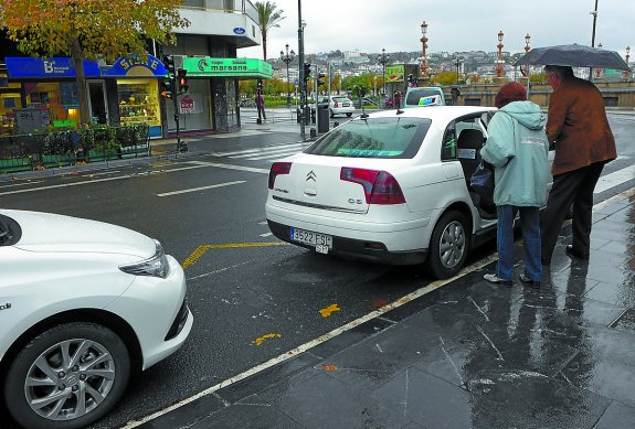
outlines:
[[547, 65], [544, 74], [553, 88], [547, 138], [555, 149], [553, 185], [541, 222], [542, 265], [548, 266], [572, 205], [573, 242], [564, 251], [589, 259], [593, 190], [604, 164], [614, 160], [617, 151], [600, 89], [575, 77], [568, 66]]

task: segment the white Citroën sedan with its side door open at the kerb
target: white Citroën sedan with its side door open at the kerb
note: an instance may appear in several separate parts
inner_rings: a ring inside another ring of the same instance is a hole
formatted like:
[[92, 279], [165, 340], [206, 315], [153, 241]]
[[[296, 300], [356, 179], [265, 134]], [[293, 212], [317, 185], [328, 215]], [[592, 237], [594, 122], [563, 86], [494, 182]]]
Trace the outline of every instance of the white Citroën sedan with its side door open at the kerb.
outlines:
[[[469, 178], [495, 108], [432, 106], [361, 115], [274, 162], [266, 218], [288, 243], [454, 276], [496, 234]], [[552, 155], [550, 155], [552, 159]]]

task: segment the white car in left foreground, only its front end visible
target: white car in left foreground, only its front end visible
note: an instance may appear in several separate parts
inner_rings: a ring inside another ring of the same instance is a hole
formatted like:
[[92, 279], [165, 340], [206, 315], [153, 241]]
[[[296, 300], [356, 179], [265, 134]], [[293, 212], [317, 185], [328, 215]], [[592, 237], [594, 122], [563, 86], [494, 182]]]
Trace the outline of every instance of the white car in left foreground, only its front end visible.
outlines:
[[[80, 428], [193, 318], [179, 262], [119, 226], [0, 210], [0, 398], [24, 428]], [[0, 407], [1, 409], [2, 407]]]

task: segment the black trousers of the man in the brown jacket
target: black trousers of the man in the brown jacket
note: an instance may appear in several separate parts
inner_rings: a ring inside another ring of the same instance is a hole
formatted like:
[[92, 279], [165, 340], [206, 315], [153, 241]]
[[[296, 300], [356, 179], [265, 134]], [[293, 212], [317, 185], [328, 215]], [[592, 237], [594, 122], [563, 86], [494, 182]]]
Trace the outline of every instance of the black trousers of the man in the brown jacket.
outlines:
[[558, 235], [571, 204], [573, 204], [573, 250], [580, 255], [589, 255], [593, 190], [603, 168], [604, 162], [596, 162], [553, 176], [553, 186], [549, 192], [547, 208], [540, 222], [543, 261], [551, 261]]

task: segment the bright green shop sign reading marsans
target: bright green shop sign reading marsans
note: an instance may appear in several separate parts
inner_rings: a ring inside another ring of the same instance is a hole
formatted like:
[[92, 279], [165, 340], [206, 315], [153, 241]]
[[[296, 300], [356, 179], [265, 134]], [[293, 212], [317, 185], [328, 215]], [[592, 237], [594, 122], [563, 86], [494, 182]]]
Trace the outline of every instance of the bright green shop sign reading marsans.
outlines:
[[195, 77], [273, 77], [272, 65], [255, 58], [183, 57], [188, 76]]

